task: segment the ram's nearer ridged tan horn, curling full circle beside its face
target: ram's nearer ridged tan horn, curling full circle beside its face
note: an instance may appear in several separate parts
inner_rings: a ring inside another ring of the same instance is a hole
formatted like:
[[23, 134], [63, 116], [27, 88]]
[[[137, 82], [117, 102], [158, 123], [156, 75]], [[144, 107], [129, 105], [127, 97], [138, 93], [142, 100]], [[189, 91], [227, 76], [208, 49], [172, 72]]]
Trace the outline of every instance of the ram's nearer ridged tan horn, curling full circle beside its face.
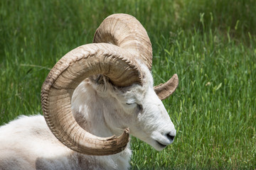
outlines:
[[129, 141], [129, 129], [119, 137], [97, 137], [82, 129], [73, 117], [71, 98], [80, 82], [104, 74], [115, 86], [142, 84], [129, 52], [105, 43], [82, 45], [68, 52], [51, 69], [41, 89], [43, 115], [53, 135], [75, 152], [107, 155], [121, 152]]

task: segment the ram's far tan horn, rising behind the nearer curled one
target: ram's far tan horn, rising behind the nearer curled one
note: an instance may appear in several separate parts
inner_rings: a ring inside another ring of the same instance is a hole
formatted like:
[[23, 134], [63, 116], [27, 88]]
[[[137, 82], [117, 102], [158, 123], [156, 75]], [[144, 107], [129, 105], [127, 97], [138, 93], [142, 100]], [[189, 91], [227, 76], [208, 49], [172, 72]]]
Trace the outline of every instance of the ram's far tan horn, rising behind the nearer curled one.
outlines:
[[93, 42], [117, 45], [141, 60], [151, 70], [152, 47], [145, 28], [133, 16], [118, 13], [105, 18], [95, 32]]

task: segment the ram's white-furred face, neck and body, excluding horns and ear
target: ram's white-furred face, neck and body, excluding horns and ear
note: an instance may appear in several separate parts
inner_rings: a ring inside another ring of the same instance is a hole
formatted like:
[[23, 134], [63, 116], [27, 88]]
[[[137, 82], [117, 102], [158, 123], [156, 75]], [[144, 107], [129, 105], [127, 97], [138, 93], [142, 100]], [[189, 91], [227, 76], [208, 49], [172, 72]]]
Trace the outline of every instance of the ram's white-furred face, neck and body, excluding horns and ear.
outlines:
[[[121, 135], [129, 127], [131, 135], [157, 150], [164, 149], [159, 142], [171, 144], [166, 135], [175, 136], [176, 130], [154, 92], [151, 73], [142, 70], [143, 86], [119, 89], [96, 76], [82, 81], [72, 98], [80, 126], [100, 137]], [[129, 145], [109, 156], [73, 152], [53, 136], [41, 115], [21, 116], [0, 127], [0, 169], [129, 169], [131, 154]]]

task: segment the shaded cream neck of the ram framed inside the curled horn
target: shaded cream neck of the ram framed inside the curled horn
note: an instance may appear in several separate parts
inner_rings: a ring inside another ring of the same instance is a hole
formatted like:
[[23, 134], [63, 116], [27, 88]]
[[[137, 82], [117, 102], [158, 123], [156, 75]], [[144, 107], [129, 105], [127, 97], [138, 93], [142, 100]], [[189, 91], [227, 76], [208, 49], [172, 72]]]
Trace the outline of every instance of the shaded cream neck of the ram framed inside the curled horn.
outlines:
[[72, 108], [75, 120], [78, 124], [100, 137], [110, 137], [114, 134], [109, 125], [105, 122], [104, 113], [108, 112], [104, 98], [92, 88], [90, 81], [85, 80], [75, 89], [72, 98]]

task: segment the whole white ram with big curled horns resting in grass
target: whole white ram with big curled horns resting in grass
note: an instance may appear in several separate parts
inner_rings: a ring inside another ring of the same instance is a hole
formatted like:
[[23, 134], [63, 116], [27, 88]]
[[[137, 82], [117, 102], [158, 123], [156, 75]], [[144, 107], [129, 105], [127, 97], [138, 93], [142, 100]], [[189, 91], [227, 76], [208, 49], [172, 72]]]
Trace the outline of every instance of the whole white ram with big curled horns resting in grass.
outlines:
[[129, 133], [156, 150], [174, 141], [161, 100], [178, 77], [153, 86], [151, 42], [141, 23], [114, 14], [93, 42], [51, 69], [41, 90], [44, 118], [1, 126], [0, 169], [129, 169]]

